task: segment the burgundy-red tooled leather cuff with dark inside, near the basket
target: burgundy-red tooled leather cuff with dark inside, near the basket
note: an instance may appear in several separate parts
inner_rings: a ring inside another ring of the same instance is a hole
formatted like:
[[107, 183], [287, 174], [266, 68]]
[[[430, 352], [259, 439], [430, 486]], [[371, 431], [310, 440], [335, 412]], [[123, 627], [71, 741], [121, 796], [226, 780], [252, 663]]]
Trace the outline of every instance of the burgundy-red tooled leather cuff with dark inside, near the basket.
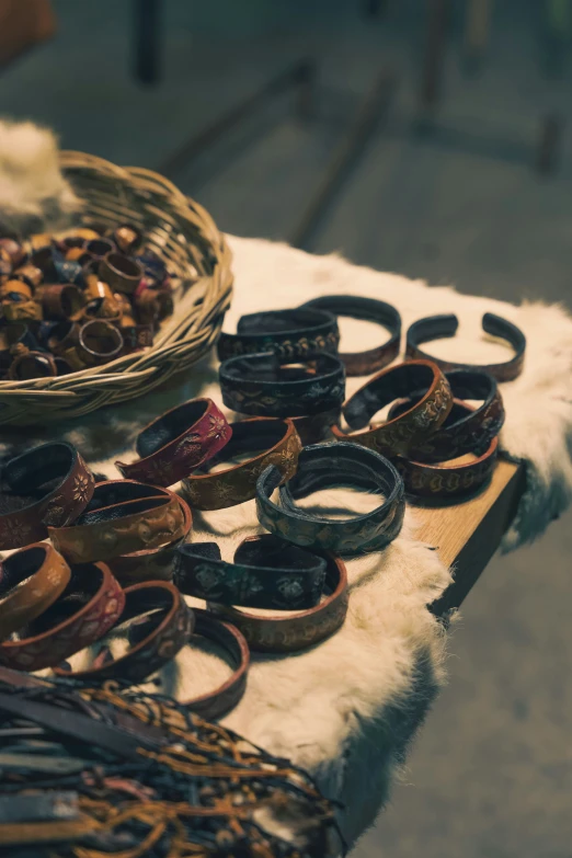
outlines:
[[173, 485], [222, 449], [231, 435], [211, 399], [193, 399], [167, 411], [139, 433], [138, 461], [116, 461], [115, 466], [133, 480]]

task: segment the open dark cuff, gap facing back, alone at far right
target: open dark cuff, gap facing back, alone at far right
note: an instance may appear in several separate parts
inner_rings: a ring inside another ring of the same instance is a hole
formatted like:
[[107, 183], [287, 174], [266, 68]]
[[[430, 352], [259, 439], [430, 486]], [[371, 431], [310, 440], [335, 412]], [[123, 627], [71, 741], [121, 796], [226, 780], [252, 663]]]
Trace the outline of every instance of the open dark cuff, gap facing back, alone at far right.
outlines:
[[482, 330], [492, 336], [506, 340], [513, 346], [515, 354], [511, 361], [502, 364], [464, 364], [459, 361], [443, 361], [441, 357], [432, 357], [420, 348], [421, 343], [455, 336], [458, 327], [459, 320], [454, 314], [430, 316], [413, 322], [407, 334], [407, 358], [433, 361], [445, 371], [449, 369], [480, 369], [489, 373], [497, 381], [512, 381], [520, 375], [524, 366], [526, 338], [516, 324], [500, 316], [494, 316], [492, 312], [485, 312], [482, 317]]

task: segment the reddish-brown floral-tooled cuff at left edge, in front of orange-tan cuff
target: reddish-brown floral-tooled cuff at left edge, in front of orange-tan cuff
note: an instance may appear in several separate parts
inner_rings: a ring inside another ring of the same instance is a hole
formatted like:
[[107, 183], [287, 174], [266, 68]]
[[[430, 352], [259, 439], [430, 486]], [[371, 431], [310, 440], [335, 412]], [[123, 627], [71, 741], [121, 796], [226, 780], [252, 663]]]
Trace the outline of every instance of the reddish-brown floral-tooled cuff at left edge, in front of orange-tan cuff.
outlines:
[[78, 567], [57, 602], [18, 639], [0, 643], [0, 664], [30, 672], [59, 664], [103, 638], [115, 626], [124, 602], [123, 590], [104, 563]]

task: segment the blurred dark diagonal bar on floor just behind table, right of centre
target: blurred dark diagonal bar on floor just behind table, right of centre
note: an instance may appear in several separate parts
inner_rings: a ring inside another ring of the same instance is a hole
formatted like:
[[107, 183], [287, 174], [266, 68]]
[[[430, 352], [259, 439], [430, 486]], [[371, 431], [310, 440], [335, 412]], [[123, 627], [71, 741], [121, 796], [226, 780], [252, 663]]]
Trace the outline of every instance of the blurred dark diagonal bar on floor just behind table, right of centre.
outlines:
[[359, 104], [347, 134], [335, 149], [318, 187], [293, 231], [290, 238], [293, 247], [305, 248], [307, 245], [332, 197], [339, 191], [378, 123], [387, 113], [396, 84], [397, 78], [393, 71], [385, 68]]

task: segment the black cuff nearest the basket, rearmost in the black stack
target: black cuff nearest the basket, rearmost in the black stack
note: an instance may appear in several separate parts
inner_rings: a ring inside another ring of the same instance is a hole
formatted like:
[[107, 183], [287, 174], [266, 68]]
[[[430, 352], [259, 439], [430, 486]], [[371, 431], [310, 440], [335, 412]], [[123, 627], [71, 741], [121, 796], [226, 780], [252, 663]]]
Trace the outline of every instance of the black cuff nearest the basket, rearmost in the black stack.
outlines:
[[271, 310], [242, 316], [236, 334], [221, 333], [218, 358], [274, 352], [283, 359], [338, 353], [340, 331], [335, 317], [313, 307]]

